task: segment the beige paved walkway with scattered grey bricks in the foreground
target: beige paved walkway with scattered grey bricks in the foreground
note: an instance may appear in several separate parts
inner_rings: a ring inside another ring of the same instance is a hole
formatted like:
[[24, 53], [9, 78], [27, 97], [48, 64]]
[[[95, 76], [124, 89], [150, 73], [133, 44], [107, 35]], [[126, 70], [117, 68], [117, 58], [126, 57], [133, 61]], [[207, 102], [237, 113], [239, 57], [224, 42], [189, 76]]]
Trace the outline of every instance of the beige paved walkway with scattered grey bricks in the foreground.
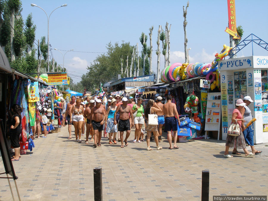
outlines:
[[[162, 150], [147, 151], [146, 142], [120, 148], [108, 144], [93, 148], [68, 140], [67, 127], [47, 138], [35, 139], [35, 148], [13, 166], [21, 200], [94, 200], [94, 167], [102, 167], [103, 200], [201, 200], [202, 170], [210, 172], [209, 195], [267, 195], [266, 144], [261, 155], [224, 158], [224, 141], [192, 140], [169, 150], [166, 133]], [[155, 142], [151, 147], [156, 148]], [[248, 149], [250, 149], [248, 147]], [[231, 149], [230, 149], [231, 153]], [[0, 171], [4, 172], [2, 162]], [[11, 180], [15, 197], [15, 185]], [[1, 179], [0, 200], [12, 200], [8, 181]]]

